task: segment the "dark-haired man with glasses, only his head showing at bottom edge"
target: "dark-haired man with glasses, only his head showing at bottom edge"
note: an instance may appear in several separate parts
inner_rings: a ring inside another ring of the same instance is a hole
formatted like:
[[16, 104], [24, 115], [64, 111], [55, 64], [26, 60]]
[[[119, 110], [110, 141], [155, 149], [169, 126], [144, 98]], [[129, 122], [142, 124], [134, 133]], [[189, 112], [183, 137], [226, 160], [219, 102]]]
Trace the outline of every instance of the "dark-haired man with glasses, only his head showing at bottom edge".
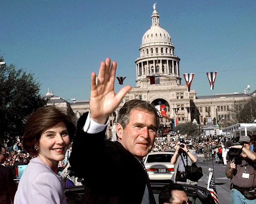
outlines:
[[165, 185], [158, 197], [159, 204], [190, 204], [181, 184]]

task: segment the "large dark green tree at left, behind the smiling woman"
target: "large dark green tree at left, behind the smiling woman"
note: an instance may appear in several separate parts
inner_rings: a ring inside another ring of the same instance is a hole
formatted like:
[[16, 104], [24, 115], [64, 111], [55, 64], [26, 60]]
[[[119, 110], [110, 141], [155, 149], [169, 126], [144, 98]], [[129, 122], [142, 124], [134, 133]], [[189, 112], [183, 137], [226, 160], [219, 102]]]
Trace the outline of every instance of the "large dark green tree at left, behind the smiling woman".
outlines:
[[[0, 57], [0, 62], [3, 57]], [[0, 139], [6, 135], [22, 136], [29, 115], [46, 104], [40, 85], [15, 65], [0, 66]]]

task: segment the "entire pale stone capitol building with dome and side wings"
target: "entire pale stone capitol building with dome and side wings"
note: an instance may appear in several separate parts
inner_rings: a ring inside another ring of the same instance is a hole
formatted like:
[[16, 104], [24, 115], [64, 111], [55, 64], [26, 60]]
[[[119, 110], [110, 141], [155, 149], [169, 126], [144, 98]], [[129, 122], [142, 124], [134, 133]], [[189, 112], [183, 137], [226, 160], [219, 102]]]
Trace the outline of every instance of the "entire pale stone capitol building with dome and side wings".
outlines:
[[[155, 5], [151, 15], [151, 27], [142, 36], [139, 56], [135, 59], [136, 87], [126, 94], [115, 113], [109, 117], [107, 136], [112, 137], [118, 110], [131, 99], [141, 99], [158, 108], [164, 107], [164, 115], [160, 117], [161, 125], [173, 127], [185, 122], [196, 122], [200, 127], [206, 126], [209, 119], [219, 123], [220, 129], [227, 126], [230, 110], [241, 101], [250, 99], [245, 93], [215, 94], [212, 96], [196, 96], [196, 90], [188, 91], [187, 85], [181, 84], [180, 58], [175, 55], [175, 47], [170, 34], [161, 28], [159, 14]], [[149, 19], [150, 26], [150, 19]], [[150, 84], [150, 77], [159, 78], [159, 84]], [[49, 104], [58, 105], [78, 119], [89, 111], [89, 100], [69, 103], [52, 93]], [[214, 125], [213, 124], [213, 125]]]

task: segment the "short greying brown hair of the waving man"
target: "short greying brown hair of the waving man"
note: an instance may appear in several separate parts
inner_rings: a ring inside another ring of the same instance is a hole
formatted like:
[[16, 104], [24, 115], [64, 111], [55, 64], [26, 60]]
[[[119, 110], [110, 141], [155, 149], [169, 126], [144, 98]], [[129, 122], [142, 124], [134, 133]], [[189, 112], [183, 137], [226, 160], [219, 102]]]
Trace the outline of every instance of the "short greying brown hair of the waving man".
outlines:
[[130, 100], [124, 104], [124, 106], [120, 109], [118, 113], [116, 122], [120, 123], [122, 127], [125, 129], [130, 120], [131, 111], [133, 110], [140, 110], [140, 111], [145, 111], [145, 112], [155, 114], [155, 119], [156, 119], [155, 125], [158, 128], [159, 116], [155, 107], [151, 105], [149, 102], [138, 100], [138, 99]]

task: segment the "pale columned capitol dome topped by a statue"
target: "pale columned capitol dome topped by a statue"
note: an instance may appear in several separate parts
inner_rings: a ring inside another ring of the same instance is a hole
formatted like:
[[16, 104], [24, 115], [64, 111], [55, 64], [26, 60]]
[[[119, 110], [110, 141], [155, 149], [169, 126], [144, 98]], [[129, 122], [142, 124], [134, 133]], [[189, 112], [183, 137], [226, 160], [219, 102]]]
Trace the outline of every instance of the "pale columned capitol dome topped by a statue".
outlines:
[[147, 30], [141, 42], [140, 57], [136, 63], [136, 86], [152, 86], [150, 76], [161, 76], [160, 84], [180, 85], [180, 58], [174, 54], [174, 46], [169, 33], [161, 28], [159, 14], [153, 5], [151, 27]]

